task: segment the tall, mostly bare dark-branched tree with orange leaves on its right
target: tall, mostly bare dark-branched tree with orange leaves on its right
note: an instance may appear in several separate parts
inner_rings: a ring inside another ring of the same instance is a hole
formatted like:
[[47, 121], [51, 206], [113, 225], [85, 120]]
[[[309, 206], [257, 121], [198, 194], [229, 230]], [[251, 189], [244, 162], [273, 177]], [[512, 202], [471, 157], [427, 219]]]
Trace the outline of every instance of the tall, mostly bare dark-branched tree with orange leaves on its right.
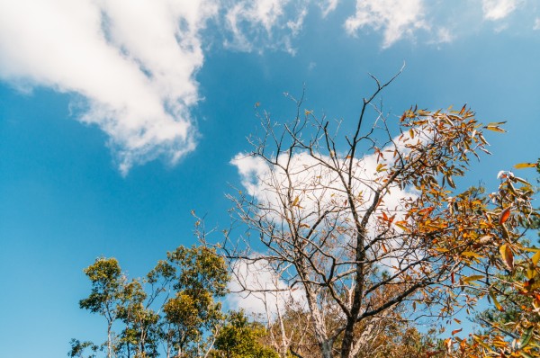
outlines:
[[473, 307], [485, 291], [461, 291], [490, 280], [505, 239], [495, 220], [515, 204], [490, 208], [482, 191], [455, 185], [472, 157], [489, 153], [482, 130], [504, 131], [502, 123], [482, 126], [466, 106], [415, 107], [391, 121], [374, 100], [392, 80], [375, 79], [346, 136], [293, 99], [293, 121], [280, 125], [265, 113], [264, 134], [237, 157], [255, 169], [247, 194], [230, 196], [246, 234], [238, 241], [227, 232], [225, 253], [268, 267], [283, 286], [254, 288], [238, 272], [235, 279], [250, 293], [301, 292], [325, 358], [357, 356], [362, 335], [396, 311], [446, 318]]

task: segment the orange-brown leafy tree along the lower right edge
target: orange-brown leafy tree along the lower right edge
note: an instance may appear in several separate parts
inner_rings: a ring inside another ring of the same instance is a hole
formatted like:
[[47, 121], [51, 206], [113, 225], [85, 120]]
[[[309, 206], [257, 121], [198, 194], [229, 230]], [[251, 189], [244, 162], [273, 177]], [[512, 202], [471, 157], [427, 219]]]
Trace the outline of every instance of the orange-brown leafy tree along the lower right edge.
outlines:
[[[540, 162], [522, 163], [519, 168]], [[500, 207], [500, 257], [492, 257], [494, 279], [486, 282], [491, 307], [477, 315], [482, 332], [472, 335], [465, 354], [482, 357], [531, 357], [540, 355], [540, 249], [527, 234], [537, 231], [540, 214], [530, 203], [533, 187], [511, 172], [500, 173], [501, 183], [491, 199]], [[534, 236], [534, 235], [533, 235]], [[536, 235], [537, 237], [537, 235]], [[497, 264], [499, 263], [499, 264]]]

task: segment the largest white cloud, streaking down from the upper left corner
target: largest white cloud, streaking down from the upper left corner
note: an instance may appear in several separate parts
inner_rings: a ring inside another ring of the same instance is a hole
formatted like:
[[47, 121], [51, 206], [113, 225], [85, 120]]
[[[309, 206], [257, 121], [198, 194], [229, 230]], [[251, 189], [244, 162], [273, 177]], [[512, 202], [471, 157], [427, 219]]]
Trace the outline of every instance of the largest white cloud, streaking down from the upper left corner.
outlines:
[[109, 136], [122, 173], [195, 148], [190, 109], [208, 1], [0, 3], [0, 76], [80, 94], [80, 121]]

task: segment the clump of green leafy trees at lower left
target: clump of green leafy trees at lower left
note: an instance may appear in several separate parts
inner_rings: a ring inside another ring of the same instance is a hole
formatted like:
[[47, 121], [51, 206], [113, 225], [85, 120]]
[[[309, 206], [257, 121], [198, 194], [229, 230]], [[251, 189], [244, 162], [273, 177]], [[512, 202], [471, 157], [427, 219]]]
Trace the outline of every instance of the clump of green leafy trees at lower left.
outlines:
[[[107, 357], [205, 356], [211, 351], [222, 324], [218, 299], [229, 282], [225, 260], [215, 249], [179, 246], [142, 280], [128, 281], [114, 258], [100, 257], [84, 271], [92, 292], [80, 307], [106, 319]], [[90, 342], [74, 339], [71, 345], [71, 357], [83, 357], [86, 348], [97, 351]]]

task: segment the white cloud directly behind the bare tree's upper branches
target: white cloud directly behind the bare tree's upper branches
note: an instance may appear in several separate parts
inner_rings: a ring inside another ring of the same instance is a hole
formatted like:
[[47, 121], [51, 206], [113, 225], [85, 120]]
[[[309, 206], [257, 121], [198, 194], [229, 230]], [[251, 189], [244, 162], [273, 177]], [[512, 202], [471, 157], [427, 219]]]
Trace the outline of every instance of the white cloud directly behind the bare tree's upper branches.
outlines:
[[[427, 136], [424, 137], [426, 137], [425, 140], [428, 140]], [[409, 149], [404, 148], [403, 142], [396, 140], [396, 143], [398, 143], [403, 156], [409, 153]], [[331, 163], [329, 157], [322, 157], [322, 160]], [[268, 208], [265, 212], [267, 219], [272, 219], [275, 222], [284, 220], [285, 213], [282, 201], [287, 200], [290, 183], [291, 188], [293, 188], [290, 195], [293, 198], [298, 198], [298, 204], [294, 209], [295, 217], [302, 219], [302, 223], [311, 224], [319, 219], [321, 212], [328, 210], [329, 212], [337, 212], [335, 219], [342, 222], [344, 227], [352, 225], [352, 217], [347, 210], [347, 194], [335, 171], [322, 165], [319, 160], [311, 157], [307, 152], [301, 152], [291, 158], [288, 164], [289, 175], [287, 176], [283, 169], [284, 166], [287, 166], [287, 161], [288, 155], [285, 153], [277, 158], [277, 162], [282, 166], [271, 167], [260, 157], [238, 154], [231, 160], [231, 164], [238, 168], [242, 186], [247, 193], [257, 199], [258, 203]], [[385, 175], [384, 171], [377, 171], [377, 166], [380, 164], [390, 167], [393, 165], [393, 160], [390, 157], [378, 160], [376, 155], [368, 155], [353, 163], [355, 178], [353, 192], [358, 193], [357, 205], [361, 211], [367, 210], [373, 201], [374, 183]], [[416, 198], [417, 195], [410, 190], [400, 189], [397, 185], [392, 185], [389, 189], [390, 194], [384, 196], [379, 210], [384, 209], [396, 214], [395, 220], [399, 221], [404, 213], [402, 199]], [[372, 219], [370, 226], [374, 228], [374, 217]], [[332, 225], [334, 224], [335, 222], [332, 223]], [[321, 225], [320, 228], [323, 226]]]

